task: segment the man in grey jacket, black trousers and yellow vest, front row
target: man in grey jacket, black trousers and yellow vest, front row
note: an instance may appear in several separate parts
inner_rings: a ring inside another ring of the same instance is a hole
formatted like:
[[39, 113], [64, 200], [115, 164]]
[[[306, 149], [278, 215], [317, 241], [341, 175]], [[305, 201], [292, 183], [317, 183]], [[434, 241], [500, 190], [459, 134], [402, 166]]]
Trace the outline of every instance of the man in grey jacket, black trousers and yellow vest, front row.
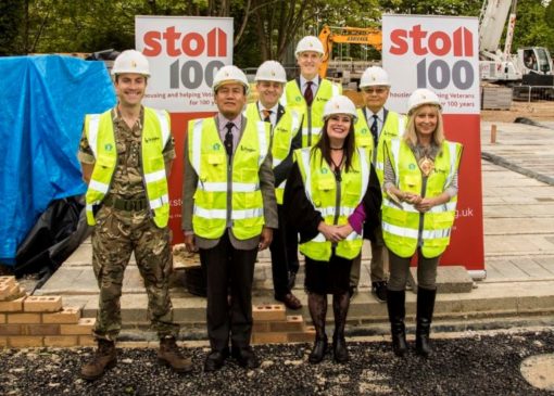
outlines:
[[260, 365], [250, 346], [254, 263], [278, 227], [270, 126], [242, 115], [249, 85], [236, 66], [217, 72], [213, 90], [217, 114], [189, 123], [182, 187], [185, 244], [200, 250], [206, 276], [206, 372], [223, 367], [229, 338], [240, 366]]

